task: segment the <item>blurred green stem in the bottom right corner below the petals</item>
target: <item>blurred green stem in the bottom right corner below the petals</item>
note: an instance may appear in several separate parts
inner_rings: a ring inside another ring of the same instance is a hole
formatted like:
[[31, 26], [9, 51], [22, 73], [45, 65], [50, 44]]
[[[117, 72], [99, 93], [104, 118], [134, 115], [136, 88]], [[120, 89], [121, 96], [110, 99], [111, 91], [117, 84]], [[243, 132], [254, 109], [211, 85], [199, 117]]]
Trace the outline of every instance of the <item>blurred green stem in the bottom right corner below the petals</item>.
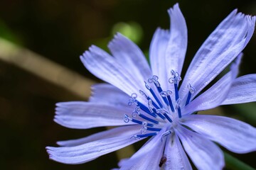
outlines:
[[232, 155], [228, 154], [227, 152], [224, 152], [224, 157], [225, 157], [225, 167], [227, 169], [255, 170], [251, 166], [245, 164], [244, 162], [241, 162], [239, 159], [233, 157]]

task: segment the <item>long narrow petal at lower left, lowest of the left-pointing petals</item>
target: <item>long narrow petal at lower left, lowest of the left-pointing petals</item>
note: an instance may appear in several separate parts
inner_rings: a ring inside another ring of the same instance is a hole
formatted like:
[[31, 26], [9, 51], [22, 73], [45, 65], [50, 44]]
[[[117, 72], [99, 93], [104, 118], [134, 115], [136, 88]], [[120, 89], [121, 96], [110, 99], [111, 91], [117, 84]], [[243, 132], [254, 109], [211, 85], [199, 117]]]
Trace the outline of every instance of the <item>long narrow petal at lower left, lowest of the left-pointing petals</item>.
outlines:
[[128, 127], [123, 133], [120, 137], [97, 140], [75, 147], [46, 147], [46, 149], [50, 159], [56, 162], [63, 164], [82, 164], [144, 139], [138, 140], [131, 138], [137, 134], [137, 130], [130, 130]]

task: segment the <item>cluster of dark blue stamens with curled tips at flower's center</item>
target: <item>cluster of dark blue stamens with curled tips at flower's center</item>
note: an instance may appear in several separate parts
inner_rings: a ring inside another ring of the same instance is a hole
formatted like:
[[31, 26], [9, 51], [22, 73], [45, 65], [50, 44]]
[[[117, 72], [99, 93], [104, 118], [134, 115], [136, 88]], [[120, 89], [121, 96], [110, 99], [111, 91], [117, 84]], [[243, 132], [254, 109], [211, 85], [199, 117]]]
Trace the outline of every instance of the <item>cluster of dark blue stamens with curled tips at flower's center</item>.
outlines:
[[[170, 90], [163, 91], [158, 81], [159, 77], [150, 77], [147, 81], [144, 81], [147, 92], [139, 90], [139, 94], [144, 96], [147, 103], [142, 103], [137, 100], [137, 94], [132, 94], [129, 99], [128, 105], [135, 106], [132, 118], [129, 115], [124, 115], [124, 122], [128, 123], [132, 121], [139, 125], [142, 125], [141, 134], [134, 135], [134, 138], [142, 138], [157, 135], [166, 123], [171, 124], [171, 127], [175, 128], [178, 120], [181, 118], [181, 104], [183, 99], [178, 95], [178, 83], [181, 81], [181, 77], [178, 72], [171, 70], [171, 78], [169, 83], [173, 84], [174, 92]], [[154, 84], [150, 86], [149, 84]], [[191, 94], [195, 92], [195, 89], [188, 84], [188, 96], [186, 98], [186, 106], [191, 101]], [[175, 106], [174, 106], [175, 104]], [[168, 130], [162, 135], [166, 136], [171, 134]]]

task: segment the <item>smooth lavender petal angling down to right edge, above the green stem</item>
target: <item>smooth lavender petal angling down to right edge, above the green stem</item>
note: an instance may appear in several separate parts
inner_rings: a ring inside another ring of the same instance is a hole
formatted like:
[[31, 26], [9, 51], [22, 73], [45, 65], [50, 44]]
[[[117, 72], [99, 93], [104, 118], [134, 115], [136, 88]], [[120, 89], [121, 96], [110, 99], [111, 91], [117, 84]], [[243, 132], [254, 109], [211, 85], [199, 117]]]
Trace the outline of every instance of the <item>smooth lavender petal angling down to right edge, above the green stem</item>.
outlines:
[[256, 151], [256, 128], [218, 115], [188, 115], [183, 124], [235, 153]]

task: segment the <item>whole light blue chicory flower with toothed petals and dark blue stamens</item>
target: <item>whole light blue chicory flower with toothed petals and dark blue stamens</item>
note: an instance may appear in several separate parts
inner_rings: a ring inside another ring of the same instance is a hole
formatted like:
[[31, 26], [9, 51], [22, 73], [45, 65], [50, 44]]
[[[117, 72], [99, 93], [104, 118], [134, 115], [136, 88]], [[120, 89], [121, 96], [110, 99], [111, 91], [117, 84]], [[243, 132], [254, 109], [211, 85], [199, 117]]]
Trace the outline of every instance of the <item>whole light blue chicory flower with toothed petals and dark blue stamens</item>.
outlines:
[[[200, 47], [181, 81], [186, 22], [178, 4], [168, 12], [171, 28], [154, 33], [150, 66], [139, 47], [119, 33], [108, 45], [112, 55], [92, 45], [80, 57], [92, 74], [109, 84], [92, 86], [88, 102], [57, 103], [55, 122], [77, 129], [119, 127], [47, 147], [50, 159], [81, 164], [146, 137], [150, 139], [121, 169], [192, 169], [188, 157], [198, 169], [223, 169], [223, 152], [215, 142], [235, 153], [256, 150], [251, 125], [196, 114], [256, 101], [256, 74], [237, 78], [255, 16], [231, 12]], [[229, 65], [230, 71], [205, 89]]]

